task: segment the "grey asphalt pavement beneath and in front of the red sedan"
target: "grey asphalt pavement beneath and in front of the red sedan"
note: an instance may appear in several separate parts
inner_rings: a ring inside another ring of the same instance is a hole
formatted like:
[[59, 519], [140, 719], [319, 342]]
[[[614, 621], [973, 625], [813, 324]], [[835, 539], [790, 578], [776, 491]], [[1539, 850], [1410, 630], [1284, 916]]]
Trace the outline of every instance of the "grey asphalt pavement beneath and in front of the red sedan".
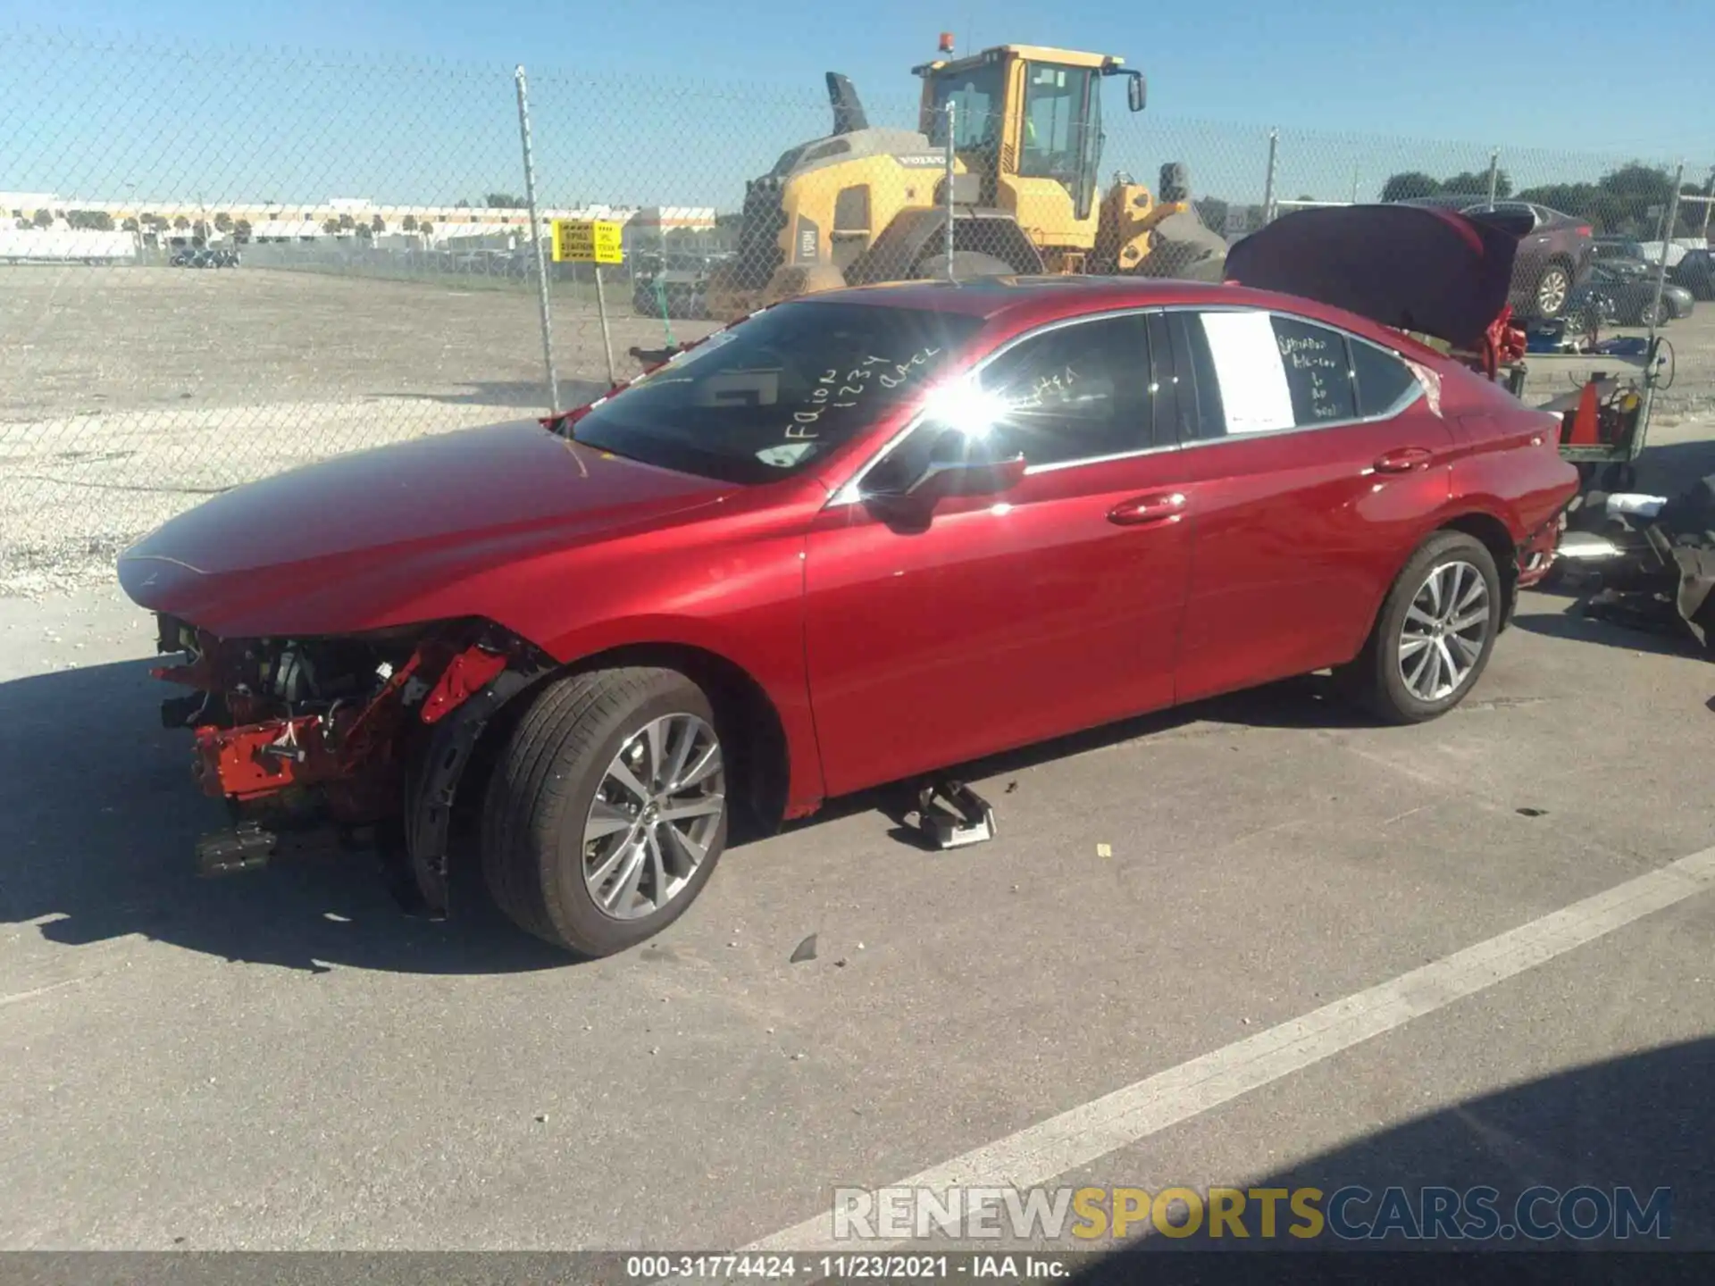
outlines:
[[[1435, 724], [1312, 682], [1135, 720], [976, 766], [1000, 837], [945, 854], [844, 801], [569, 965], [470, 900], [405, 919], [350, 856], [197, 881], [220, 813], [158, 727], [147, 619], [0, 600], [0, 1247], [779, 1245], [954, 1159], [1670, 1185], [1676, 1245], [1715, 1247], [1715, 890], [1706, 857], [1658, 874], [1715, 845], [1715, 670], [1569, 605], [1528, 595]], [[1156, 1116], [1101, 1123], [1116, 1094]]]

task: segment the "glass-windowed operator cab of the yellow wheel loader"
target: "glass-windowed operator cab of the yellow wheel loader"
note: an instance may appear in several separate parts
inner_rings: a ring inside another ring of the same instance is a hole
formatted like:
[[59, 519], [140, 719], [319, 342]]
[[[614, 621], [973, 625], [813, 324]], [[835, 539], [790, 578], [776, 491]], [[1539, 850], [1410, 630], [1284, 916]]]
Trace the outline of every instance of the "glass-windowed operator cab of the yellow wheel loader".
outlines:
[[[943, 48], [945, 48], [943, 39]], [[1120, 58], [1032, 45], [1002, 45], [912, 69], [923, 77], [919, 129], [954, 153], [974, 192], [955, 201], [1010, 213], [1041, 247], [1087, 250], [1099, 221], [1101, 82], [1127, 75], [1128, 105], [1144, 81]]]

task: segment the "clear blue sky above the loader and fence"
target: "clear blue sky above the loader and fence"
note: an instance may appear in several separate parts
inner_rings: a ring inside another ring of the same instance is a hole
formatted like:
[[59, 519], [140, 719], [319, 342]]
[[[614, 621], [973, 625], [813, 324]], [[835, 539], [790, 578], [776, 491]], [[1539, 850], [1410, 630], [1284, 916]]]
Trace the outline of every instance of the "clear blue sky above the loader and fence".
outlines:
[[[5, 22], [39, 22], [46, 14], [39, 0], [0, 0]], [[540, 82], [539, 132], [554, 195], [672, 199], [679, 192], [667, 189], [683, 183], [667, 171], [677, 166], [696, 189], [681, 199], [725, 197], [722, 204], [731, 204], [743, 175], [767, 168], [789, 142], [825, 132], [823, 70], [847, 72], [873, 117], [904, 123], [916, 93], [909, 67], [933, 57], [942, 29], [955, 31], [962, 50], [1022, 41], [1123, 55], [1147, 72], [1151, 110], [1127, 120], [1115, 111], [1118, 91], [1110, 94], [1110, 161], [1152, 180], [1159, 161], [1188, 158], [1194, 183], [1218, 195], [1259, 195], [1242, 189], [1261, 187], [1259, 139], [1269, 125], [1286, 130], [1281, 195], [1309, 189], [1317, 197], [1346, 197], [1343, 189], [1353, 180], [1374, 195], [1381, 178], [1399, 168], [1485, 168], [1490, 144], [1506, 147], [1502, 165], [1519, 185], [1595, 177], [1566, 171], [1631, 156], [1682, 156], [1688, 180], [1701, 182], [1715, 161], [1710, 0], [1634, 7], [1614, 0], [871, 0], [858, 9], [806, 0], [528, 0], [480, 9], [468, 0], [60, 0], [51, 21], [74, 41], [99, 34], [117, 38], [120, 48], [142, 36], [370, 60], [341, 70], [322, 58], [278, 53], [249, 63], [266, 75], [233, 70], [223, 81], [220, 60], [194, 60], [184, 75], [163, 77], [158, 65], [151, 70], [120, 57], [108, 77], [120, 84], [91, 93], [129, 93], [127, 110], [170, 98], [173, 123], [154, 118], [153, 134], [139, 125], [129, 142], [108, 141], [81, 171], [65, 161], [67, 147], [91, 141], [81, 122], [31, 122], [26, 134], [38, 147], [24, 161], [0, 142], [0, 166], [53, 178], [58, 190], [111, 185], [137, 154], [154, 159], [146, 177], [130, 182], [199, 183], [216, 192], [261, 182], [288, 189], [285, 199], [326, 195], [331, 187], [394, 201], [444, 199], [460, 185], [516, 189], [506, 156], [511, 101], [484, 77], [523, 62]], [[0, 45], [0, 58], [9, 48]], [[446, 60], [448, 67], [425, 77], [400, 70], [401, 58]], [[67, 60], [77, 65], [67, 70]], [[36, 75], [43, 87], [99, 79], [94, 60], [77, 50], [33, 53], [26, 63], [34, 65], [9, 69], [14, 91]], [[472, 93], [466, 72], [482, 86], [482, 111], [458, 106]], [[268, 106], [232, 106], [240, 93], [233, 81], [252, 82], [245, 93]], [[19, 96], [9, 98], [0, 115], [21, 110]], [[168, 137], [180, 127], [192, 130], [187, 122], [216, 101], [226, 103], [221, 111], [228, 115], [254, 115], [223, 125], [197, 122], [206, 134]], [[336, 118], [331, 137], [317, 137], [314, 122], [329, 115]], [[396, 137], [401, 115], [418, 127], [406, 142]], [[352, 117], [362, 117], [362, 132]], [[1413, 153], [1374, 135], [1463, 146]], [[175, 156], [175, 142], [194, 154]], [[1410, 165], [1417, 156], [1422, 163]], [[161, 178], [163, 163], [177, 173]], [[619, 170], [633, 171], [628, 190], [607, 183]], [[377, 183], [396, 190], [370, 190]], [[19, 187], [0, 173], [0, 189]]]

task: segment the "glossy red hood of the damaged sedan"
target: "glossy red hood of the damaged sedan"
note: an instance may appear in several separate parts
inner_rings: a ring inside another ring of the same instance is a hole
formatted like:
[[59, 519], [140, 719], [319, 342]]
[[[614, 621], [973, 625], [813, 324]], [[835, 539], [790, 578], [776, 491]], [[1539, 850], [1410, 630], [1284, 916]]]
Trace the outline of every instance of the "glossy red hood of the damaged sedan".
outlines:
[[508, 624], [484, 586], [496, 569], [647, 530], [732, 490], [575, 446], [537, 420], [465, 429], [223, 492], [127, 549], [118, 580], [141, 607], [226, 638], [466, 614]]

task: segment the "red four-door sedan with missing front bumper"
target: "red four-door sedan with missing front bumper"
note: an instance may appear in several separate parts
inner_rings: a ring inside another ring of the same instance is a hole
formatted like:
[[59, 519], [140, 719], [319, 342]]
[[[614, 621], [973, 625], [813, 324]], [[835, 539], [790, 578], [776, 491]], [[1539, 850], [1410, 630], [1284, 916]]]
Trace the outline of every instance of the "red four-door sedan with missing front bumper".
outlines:
[[593, 406], [220, 496], [120, 561], [238, 826], [374, 828], [583, 955], [743, 809], [1321, 669], [1415, 722], [1547, 571], [1557, 424], [1360, 315], [993, 279], [782, 303]]

